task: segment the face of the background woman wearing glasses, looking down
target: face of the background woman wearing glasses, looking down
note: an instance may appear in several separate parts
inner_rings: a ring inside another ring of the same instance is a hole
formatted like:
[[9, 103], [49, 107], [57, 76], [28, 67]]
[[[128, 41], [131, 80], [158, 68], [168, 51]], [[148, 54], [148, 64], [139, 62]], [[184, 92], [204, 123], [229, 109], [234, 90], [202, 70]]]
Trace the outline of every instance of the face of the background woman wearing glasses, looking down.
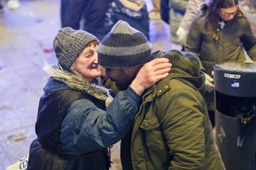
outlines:
[[220, 8], [219, 15], [224, 21], [232, 20], [239, 13], [238, 6]]

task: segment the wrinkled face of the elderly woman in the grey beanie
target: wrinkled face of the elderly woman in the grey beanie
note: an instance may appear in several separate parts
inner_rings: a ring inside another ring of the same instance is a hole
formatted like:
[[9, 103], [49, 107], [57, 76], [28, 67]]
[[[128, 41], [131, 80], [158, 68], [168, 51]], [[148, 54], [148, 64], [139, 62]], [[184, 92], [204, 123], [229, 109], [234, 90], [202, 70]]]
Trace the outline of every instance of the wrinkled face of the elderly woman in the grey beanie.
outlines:
[[85, 47], [83, 51], [79, 54], [70, 67], [70, 71], [75, 73], [75, 75], [82, 76], [83, 79], [87, 81], [92, 81], [94, 78], [101, 76], [100, 67], [98, 65], [98, 54], [96, 44], [90, 44]]

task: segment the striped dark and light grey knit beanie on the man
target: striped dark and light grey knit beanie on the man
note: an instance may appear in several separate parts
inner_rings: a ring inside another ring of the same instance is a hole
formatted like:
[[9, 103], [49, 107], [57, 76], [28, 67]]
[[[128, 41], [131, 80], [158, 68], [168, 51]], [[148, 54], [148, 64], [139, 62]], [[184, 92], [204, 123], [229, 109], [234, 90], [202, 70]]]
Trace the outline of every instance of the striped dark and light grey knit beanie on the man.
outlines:
[[134, 68], [152, 60], [144, 34], [120, 20], [98, 47], [98, 63], [105, 68]]

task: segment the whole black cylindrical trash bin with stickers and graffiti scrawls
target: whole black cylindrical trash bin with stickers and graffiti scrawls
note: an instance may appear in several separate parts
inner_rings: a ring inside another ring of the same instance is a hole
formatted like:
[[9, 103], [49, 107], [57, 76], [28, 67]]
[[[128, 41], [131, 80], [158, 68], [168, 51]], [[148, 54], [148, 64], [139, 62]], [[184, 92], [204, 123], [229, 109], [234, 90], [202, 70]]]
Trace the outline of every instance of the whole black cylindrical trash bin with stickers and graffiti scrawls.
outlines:
[[256, 169], [256, 63], [215, 65], [215, 127], [227, 170]]

